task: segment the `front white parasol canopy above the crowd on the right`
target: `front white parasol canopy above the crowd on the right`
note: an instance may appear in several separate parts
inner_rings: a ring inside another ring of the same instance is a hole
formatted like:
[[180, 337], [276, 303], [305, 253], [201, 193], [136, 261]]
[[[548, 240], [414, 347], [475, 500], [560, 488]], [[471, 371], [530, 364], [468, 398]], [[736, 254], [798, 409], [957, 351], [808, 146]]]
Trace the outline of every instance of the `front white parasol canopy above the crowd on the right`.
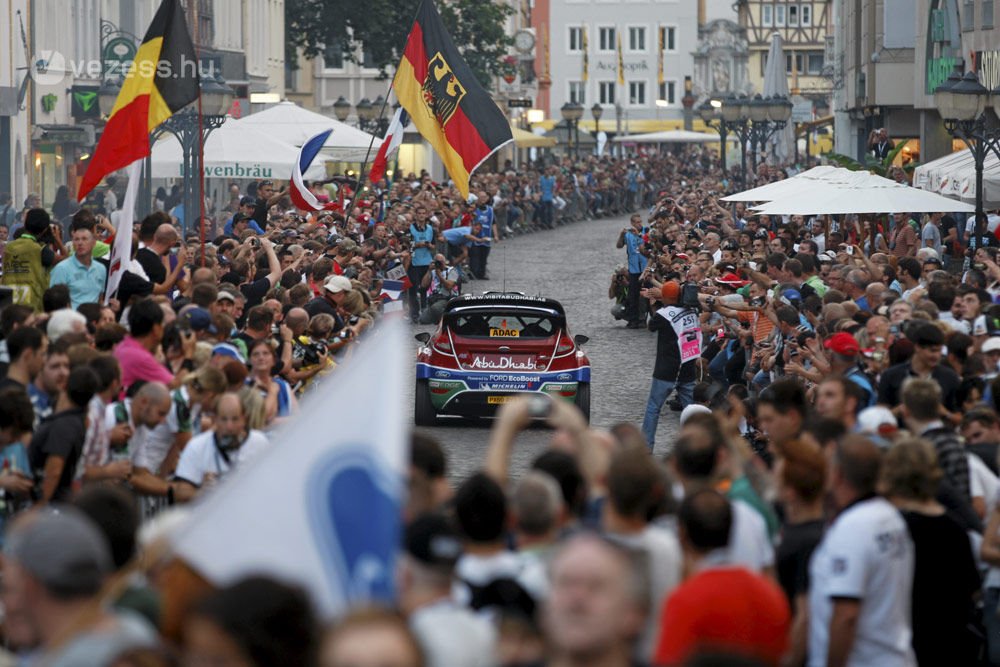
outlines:
[[848, 183], [826, 184], [758, 206], [758, 214], [971, 212], [975, 207], [868, 172]]

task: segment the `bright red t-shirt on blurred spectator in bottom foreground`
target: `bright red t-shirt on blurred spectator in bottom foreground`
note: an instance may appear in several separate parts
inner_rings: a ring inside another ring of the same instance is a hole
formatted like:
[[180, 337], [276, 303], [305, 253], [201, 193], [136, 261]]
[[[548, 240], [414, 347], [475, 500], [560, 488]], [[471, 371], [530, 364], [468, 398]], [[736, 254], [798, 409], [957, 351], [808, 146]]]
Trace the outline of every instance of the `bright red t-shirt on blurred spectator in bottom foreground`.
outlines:
[[777, 665], [790, 625], [788, 601], [770, 579], [742, 567], [705, 570], [667, 598], [653, 662], [677, 665], [705, 649]]

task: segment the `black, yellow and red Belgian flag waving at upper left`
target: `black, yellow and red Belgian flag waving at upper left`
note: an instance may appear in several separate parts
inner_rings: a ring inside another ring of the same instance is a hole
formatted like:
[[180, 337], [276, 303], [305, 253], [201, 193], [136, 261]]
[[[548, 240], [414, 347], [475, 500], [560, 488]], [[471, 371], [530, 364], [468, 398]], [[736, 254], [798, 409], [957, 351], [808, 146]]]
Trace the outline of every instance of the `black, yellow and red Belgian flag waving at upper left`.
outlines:
[[122, 83], [80, 182], [83, 200], [105, 176], [149, 155], [149, 133], [198, 99], [198, 57], [180, 0], [163, 0]]

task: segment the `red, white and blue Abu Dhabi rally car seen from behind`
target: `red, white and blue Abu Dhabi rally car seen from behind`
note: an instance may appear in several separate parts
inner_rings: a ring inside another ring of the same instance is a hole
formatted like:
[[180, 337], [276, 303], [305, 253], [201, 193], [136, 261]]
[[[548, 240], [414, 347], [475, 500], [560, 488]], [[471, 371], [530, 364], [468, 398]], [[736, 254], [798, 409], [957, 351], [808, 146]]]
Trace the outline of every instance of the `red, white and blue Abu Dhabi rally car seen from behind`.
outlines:
[[562, 305], [520, 292], [453, 298], [437, 330], [416, 335], [414, 420], [488, 417], [515, 396], [571, 401], [590, 419], [590, 360], [570, 338]]

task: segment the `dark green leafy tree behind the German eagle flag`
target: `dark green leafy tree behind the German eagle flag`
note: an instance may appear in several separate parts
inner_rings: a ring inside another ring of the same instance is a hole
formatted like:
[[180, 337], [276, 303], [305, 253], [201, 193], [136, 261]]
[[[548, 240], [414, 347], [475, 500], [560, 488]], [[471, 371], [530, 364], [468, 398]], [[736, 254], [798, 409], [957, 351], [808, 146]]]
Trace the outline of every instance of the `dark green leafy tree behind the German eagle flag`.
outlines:
[[[344, 57], [356, 62], [355, 52], [363, 46], [365, 65], [386, 77], [399, 62], [419, 1], [285, 0], [285, 57], [294, 63], [296, 49], [311, 59], [327, 45], [343, 45]], [[511, 43], [504, 33], [511, 7], [493, 0], [444, 0], [437, 9], [469, 67], [489, 89]]]

